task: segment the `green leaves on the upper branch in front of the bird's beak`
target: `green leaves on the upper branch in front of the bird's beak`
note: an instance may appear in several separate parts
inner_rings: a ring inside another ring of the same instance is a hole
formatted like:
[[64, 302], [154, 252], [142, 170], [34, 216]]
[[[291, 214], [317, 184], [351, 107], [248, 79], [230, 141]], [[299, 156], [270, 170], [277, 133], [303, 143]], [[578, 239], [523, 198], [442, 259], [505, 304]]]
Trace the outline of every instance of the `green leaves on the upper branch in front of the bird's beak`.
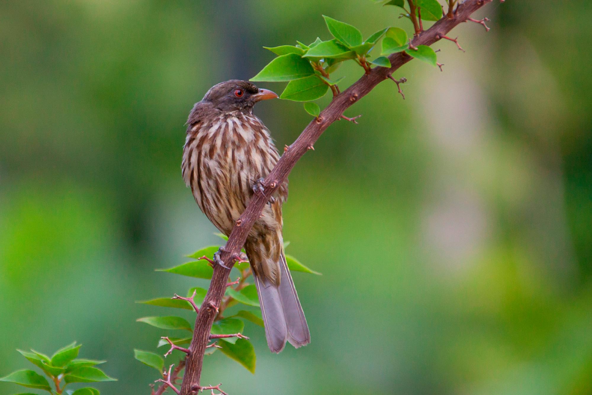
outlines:
[[[423, 9], [423, 20], [438, 20], [442, 17], [442, 8], [437, 0], [413, 1], [416, 2], [417, 9]], [[404, 9], [403, 0], [380, 2]], [[408, 13], [405, 16], [408, 17]], [[308, 45], [296, 41], [295, 45], [263, 47], [275, 53], [277, 57], [250, 81], [288, 82], [279, 98], [305, 102], [304, 110], [313, 117], [318, 117], [320, 107], [312, 101], [323, 97], [329, 90], [333, 92], [333, 96], [340, 93], [338, 84], [344, 77], [333, 78], [332, 73], [347, 60], [358, 63], [368, 73], [372, 66], [390, 68], [388, 56], [392, 53], [406, 52], [436, 66], [436, 53], [433, 49], [423, 45], [410, 46], [407, 33], [401, 28], [383, 28], [364, 40], [361, 31], [353, 25], [326, 15], [323, 15], [323, 18], [333, 38], [324, 41], [317, 37]], [[370, 53], [382, 37], [384, 38], [381, 54], [370, 60]]]

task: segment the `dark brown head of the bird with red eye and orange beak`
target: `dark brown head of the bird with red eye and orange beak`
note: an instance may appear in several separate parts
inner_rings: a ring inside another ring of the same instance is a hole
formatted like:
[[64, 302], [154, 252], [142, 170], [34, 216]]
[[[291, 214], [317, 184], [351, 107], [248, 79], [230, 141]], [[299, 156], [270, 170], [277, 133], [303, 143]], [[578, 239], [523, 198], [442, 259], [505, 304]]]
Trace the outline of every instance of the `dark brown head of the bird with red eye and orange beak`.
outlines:
[[231, 79], [212, 86], [202, 101], [210, 102], [220, 111], [238, 110], [250, 113], [256, 102], [277, 97], [274, 92], [259, 89], [249, 81]]

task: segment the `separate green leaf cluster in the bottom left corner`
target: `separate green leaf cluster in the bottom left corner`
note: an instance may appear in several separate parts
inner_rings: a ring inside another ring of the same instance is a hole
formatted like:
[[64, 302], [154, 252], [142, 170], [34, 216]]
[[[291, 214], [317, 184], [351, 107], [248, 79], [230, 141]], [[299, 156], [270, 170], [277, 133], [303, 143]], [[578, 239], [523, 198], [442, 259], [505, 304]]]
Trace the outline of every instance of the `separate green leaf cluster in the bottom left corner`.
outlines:
[[[6, 377], [0, 378], [0, 381], [7, 381], [8, 383], [18, 384], [22, 387], [47, 391], [52, 395], [99, 395], [99, 390], [92, 387], [79, 388], [78, 390], [65, 389], [71, 383], [94, 383], [116, 380], [109, 377], [99, 368], [96, 368], [96, 365], [103, 364], [106, 361], [77, 358], [80, 348], [81, 345], [73, 342], [54, 352], [52, 357], [48, 357], [33, 349], [31, 351], [18, 350], [23, 357], [40, 368], [49, 380], [34, 370], [18, 370]], [[35, 394], [20, 393], [17, 395]]]

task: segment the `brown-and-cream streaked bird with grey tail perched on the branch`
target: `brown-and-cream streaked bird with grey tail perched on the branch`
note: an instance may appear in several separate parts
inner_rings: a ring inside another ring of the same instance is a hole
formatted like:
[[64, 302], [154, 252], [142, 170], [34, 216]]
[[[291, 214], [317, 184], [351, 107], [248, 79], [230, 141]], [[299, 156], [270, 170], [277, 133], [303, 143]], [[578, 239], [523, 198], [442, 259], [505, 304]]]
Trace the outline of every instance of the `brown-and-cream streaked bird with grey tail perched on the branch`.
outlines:
[[[277, 97], [252, 82], [232, 79], [210, 88], [189, 113], [182, 176], [201, 211], [226, 236], [253, 195], [262, 193], [263, 179], [279, 160], [269, 130], [253, 115], [257, 102]], [[267, 343], [275, 353], [281, 352], [286, 342], [295, 348], [310, 343], [310, 330], [284, 253], [282, 204], [287, 197], [285, 180], [269, 198], [244, 243]], [[217, 262], [224, 265], [220, 259]]]

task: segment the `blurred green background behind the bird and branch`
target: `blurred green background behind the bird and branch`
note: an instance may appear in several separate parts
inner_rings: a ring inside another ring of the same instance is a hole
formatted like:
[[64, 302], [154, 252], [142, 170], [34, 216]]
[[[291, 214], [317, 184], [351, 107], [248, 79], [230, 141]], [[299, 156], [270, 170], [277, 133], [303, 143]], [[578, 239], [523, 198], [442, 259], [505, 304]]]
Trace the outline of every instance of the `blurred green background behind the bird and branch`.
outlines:
[[[184, 123], [210, 86], [248, 79], [262, 46], [411, 24], [369, 0], [0, 2], [0, 375], [73, 340], [108, 359], [105, 394], [148, 394], [162, 331], [134, 304], [185, 293], [154, 272], [218, 243], [181, 179]], [[216, 353], [230, 394], [592, 391], [592, 73], [588, 1], [497, 0], [337, 122], [289, 177], [288, 253], [313, 342], [256, 375]], [[342, 86], [361, 76], [337, 72]], [[281, 84], [260, 84], [280, 92]], [[301, 104], [255, 113], [283, 147]], [[159, 310], [160, 309], [160, 310]], [[193, 320], [189, 311], [186, 317]], [[176, 362], [171, 360], [169, 363]], [[19, 388], [0, 383], [1, 394]]]

